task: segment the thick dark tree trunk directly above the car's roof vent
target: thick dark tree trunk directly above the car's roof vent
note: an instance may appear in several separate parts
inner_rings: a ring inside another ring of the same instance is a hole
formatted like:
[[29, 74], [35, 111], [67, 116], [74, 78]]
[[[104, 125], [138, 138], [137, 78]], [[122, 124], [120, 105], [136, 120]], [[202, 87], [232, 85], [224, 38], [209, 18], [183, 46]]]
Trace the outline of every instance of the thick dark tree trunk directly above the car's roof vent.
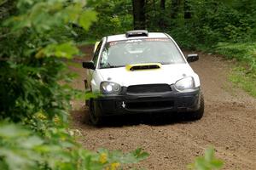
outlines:
[[146, 25], [145, 0], [132, 0], [134, 30], [144, 30]]

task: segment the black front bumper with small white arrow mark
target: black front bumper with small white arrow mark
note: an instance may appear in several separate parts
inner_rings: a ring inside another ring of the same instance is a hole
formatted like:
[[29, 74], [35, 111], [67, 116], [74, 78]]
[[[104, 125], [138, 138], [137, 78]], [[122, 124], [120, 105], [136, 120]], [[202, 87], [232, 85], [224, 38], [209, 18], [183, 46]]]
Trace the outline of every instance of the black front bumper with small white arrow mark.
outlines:
[[94, 105], [98, 114], [114, 116], [143, 112], [197, 111], [200, 101], [201, 88], [195, 88], [189, 92], [105, 95], [95, 99]]

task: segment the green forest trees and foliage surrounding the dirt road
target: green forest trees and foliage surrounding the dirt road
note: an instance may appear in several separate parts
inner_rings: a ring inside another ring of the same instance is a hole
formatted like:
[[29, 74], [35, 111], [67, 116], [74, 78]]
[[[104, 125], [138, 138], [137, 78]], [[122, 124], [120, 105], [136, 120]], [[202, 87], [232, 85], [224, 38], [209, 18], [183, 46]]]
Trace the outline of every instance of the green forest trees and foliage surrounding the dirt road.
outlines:
[[[147, 159], [141, 148], [86, 150], [70, 126], [70, 102], [94, 94], [70, 86], [66, 61], [84, 56], [78, 46], [138, 29], [235, 60], [230, 82], [256, 97], [254, 0], [0, 0], [0, 169], [115, 170]], [[222, 167], [213, 152], [188, 168]]]

